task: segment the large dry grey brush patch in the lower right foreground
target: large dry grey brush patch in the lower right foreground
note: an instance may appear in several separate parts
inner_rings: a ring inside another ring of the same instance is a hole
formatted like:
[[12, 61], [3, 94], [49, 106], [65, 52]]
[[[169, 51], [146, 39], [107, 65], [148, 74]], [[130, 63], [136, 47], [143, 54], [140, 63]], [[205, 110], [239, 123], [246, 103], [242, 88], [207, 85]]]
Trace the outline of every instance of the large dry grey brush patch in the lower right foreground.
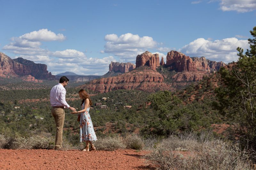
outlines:
[[239, 144], [209, 137], [169, 137], [145, 158], [159, 169], [253, 169]]

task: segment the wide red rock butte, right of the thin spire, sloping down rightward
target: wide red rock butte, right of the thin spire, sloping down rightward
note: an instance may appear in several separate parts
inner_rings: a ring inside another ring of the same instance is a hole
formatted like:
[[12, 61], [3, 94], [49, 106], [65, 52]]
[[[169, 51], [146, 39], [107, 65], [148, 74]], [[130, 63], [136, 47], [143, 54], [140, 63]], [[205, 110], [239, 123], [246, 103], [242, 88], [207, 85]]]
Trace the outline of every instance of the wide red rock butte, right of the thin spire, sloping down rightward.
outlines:
[[170, 51], [166, 56], [166, 65], [170, 70], [182, 71], [207, 71], [213, 72], [225, 66], [225, 63], [206, 60], [205, 57], [189, 57], [178, 51]]

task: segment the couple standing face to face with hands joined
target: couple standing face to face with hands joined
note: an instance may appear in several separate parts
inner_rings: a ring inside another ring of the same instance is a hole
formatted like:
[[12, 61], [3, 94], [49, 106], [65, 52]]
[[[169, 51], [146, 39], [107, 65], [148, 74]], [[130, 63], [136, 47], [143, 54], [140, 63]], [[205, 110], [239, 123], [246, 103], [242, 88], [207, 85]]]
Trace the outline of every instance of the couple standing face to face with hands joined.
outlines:
[[[66, 89], [64, 88], [66, 85], [68, 85], [68, 81], [69, 80], [67, 77], [62, 76], [60, 78], [59, 84], [52, 87], [50, 92], [52, 116], [56, 124], [55, 150], [67, 151], [67, 149], [62, 147], [62, 133], [65, 119], [64, 108], [69, 108], [72, 110], [72, 114], [77, 114], [78, 116], [80, 115], [80, 142], [85, 142], [85, 148], [82, 151], [96, 150], [92, 142], [96, 141], [97, 137], [95, 135], [91, 116], [89, 114], [92, 101], [87, 92], [84, 89], [81, 89], [78, 94], [82, 99], [82, 109], [76, 111], [74, 107], [70, 107], [66, 102]], [[89, 143], [91, 144], [90, 149]]]

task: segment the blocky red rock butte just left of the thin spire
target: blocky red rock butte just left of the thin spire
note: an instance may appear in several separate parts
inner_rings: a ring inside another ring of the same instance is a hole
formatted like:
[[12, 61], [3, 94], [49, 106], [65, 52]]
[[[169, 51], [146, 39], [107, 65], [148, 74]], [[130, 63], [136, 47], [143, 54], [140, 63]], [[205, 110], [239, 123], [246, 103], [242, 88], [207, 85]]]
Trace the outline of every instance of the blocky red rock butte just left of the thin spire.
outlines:
[[160, 66], [159, 55], [152, 54], [148, 51], [141, 55], [137, 55], [136, 68], [144, 65], [150, 67], [152, 70], [156, 70], [156, 67]]

